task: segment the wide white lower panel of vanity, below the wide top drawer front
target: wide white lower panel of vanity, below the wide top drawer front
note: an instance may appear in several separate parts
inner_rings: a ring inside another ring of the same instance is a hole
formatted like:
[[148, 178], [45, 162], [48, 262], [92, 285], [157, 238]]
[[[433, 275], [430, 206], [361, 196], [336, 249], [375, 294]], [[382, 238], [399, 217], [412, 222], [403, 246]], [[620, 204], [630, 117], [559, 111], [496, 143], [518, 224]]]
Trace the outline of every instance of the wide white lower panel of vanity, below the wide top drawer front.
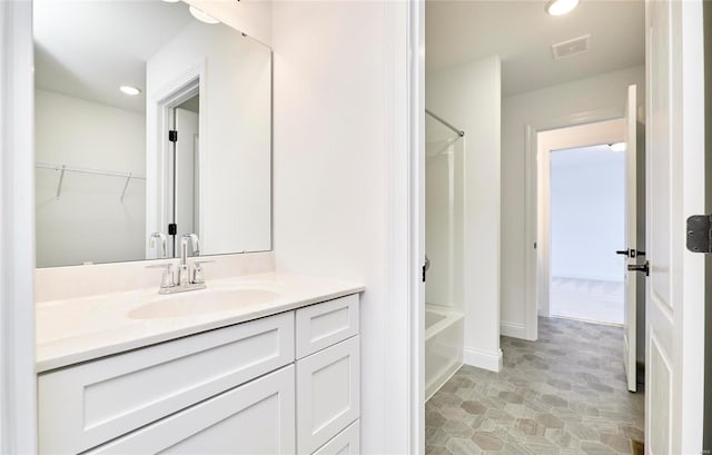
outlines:
[[293, 454], [294, 403], [289, 365], [87, 454]]

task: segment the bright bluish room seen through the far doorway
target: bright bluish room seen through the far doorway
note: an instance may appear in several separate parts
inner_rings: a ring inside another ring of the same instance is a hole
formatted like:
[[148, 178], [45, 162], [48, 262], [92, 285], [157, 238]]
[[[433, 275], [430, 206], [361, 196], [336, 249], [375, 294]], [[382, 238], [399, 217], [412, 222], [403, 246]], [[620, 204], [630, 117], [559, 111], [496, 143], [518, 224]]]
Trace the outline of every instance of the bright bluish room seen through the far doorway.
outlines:
[[551, 152], [551, 316], [623, 325], [625, 149]]

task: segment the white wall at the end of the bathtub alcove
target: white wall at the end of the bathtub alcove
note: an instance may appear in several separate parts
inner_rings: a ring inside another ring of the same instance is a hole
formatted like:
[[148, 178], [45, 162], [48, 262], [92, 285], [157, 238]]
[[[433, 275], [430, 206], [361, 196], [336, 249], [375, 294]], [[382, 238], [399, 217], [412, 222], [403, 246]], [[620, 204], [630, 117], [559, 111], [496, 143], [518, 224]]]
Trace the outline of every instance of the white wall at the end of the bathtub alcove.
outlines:
[[464, 362], [498, 370], [500, 58], [428, 73], [425, 87], [426, 107], [465, 131]]

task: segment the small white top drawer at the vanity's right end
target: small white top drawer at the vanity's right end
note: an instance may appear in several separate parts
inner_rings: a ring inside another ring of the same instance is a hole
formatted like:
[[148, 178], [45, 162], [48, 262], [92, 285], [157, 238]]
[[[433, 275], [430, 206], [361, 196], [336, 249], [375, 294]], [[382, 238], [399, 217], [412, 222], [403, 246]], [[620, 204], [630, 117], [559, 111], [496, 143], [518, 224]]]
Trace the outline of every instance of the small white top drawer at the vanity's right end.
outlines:
[[297, 309], [297, 358], [358, 334], [358, 295]]

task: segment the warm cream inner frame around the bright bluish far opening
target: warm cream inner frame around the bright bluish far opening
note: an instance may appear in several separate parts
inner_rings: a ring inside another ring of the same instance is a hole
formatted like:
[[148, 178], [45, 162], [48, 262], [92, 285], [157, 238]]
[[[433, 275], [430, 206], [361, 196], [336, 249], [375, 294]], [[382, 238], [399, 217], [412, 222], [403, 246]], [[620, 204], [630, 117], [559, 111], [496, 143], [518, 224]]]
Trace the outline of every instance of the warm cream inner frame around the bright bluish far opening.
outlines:
[[551, 152], [601, 144], [622, 142], [624, 139], [622, 118], [555, 128], [536, 135], [536, 307], [538, 316], [551, 317]]

